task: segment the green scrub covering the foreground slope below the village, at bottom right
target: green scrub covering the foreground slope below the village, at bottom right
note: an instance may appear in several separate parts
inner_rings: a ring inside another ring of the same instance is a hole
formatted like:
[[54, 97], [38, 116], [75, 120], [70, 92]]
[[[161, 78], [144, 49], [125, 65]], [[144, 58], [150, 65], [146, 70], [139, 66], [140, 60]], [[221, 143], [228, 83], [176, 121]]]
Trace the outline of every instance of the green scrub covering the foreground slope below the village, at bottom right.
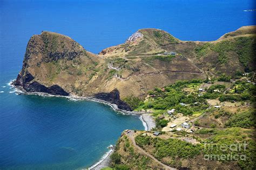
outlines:
[[[153, 147], [153, 150], [151, 149], [150, 152], [159, 160], [163, 160], [166, 157], [172, 158], [172, 160], [177, 160], [177, 158], [193, 159], [200, 154], [203, 154], [205, 158], [208, 158], [208, 155], [222, 155], [221, 157], [215, 157], [215, 160], [223, 163], [234, 161], [243, 169], [254, 168], [256, 143], [253, 140], [252, 130], [243, 130], [242, 128], [227, 128], [224, 130], [201, 129], [196, 132], [196, 135], [198, 137], [202, 135], [211, 137], [201, 137], [201, 143], [196, 145], [175, 138], [152, 138], [142, 134], [138, 135], [135, 140], [136, 144], [146, 151], [149, 146]], [[224, 146], [225, 149], [220, 149]], [[228, 157], [231, 158], [231, 155], [237, 155], [240, 159], [228, 159]], [[246, 159], [243, 159], [244, 157]], [[172, 165], [173, 163], [177, 166], [177, 162], [174, 162], [171, 161], [169, 164]]]

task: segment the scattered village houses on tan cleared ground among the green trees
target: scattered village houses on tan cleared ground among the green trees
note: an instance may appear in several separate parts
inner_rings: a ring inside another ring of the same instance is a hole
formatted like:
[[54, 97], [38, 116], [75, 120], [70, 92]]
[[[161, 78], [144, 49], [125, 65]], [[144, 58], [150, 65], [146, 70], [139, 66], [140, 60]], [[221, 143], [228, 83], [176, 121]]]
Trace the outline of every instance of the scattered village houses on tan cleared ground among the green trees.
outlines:
[[[251, 80], [248, 80], [249, 73], [242, 74], [242, 78], [240, 80], [244, 80], [247, 84], [255, 85], [254, 82]], [[254, 78], [254, 77], [253, 77]], [[252, 79], [253, 79], [252, 78]], [[207, 89], [209, 89], [212, 85], [220, 85], [225, 86], [224, 89], [214, 89], [213, 93], [226, 93], [227, 91], [230, 91], [234, 86], [235, 82], [237, 80], [231, 79], [230, 82], [227, 81], [216, 81], [214, 84], [211, 83], [211, 80], [209, 80], [207, 83], [201, 83], [198, 86], [195, 86], [193, 88], [184, 88], [184, 91], [187, 92], [193, 92], [197, 93], [198, 97], [202, 97], [207, 93]], [[164, 88], [161, 89], [161, 91], [165, 91]], [[157, 98], [160, 97], [160, 94], [150, 94], [149, 97], [151, 98]], [[208, 108], [204, 111], [206, 112], [210, 108], [214, 108], [215, 110], [219, 110], [221, 107], [228, 107], [228, 108], [235, 108], [238, 106], [241, 106], [241, 102], [239, 101], [232, 101], [232, 102], [221, 102], [218, 99], [207, 99], [207, 105]], [[185, 103], [179, 103], [178, 105], [182, 107], [190, 107], [191, 104], [185, 104]], [[193, 105], [200, 105], [198, 101], [194, 102]], [[249, 106], [250, 104], [248, 104]], [[243, 107], [247, 107], [244, 105]], [[158, 129], [157, 131], [151, 131], [146, 132], [144, 135], [150, 135], [151, 137], [160, 137], [164, 139], [168, 138], [179, 138], [181, 140], [191, 142], [192, 144], [198, 144], [199, 141], [197, 141], [194, 138], [193, 133], [197, 130], [200, 130], [203, 127], [200, 127], [198, 125], [195, 125], [197, 119], [200, 119], [204, 116], [204, 112], [202, 112], [199, 115], [184, 115], [183, 113], [177, 111], [175, 108], [171, 108], [169, 110], [166, 110], [163, 114], [158, 115], [158, 120], [167, 120], [168, 123], [163, 128]], [[182, 135], [177, 135], [177, 132], [182, 132]], [[185, 132], [185, 133], [184, 133]], [[185, 136], [184, 136], [185, 135]]]

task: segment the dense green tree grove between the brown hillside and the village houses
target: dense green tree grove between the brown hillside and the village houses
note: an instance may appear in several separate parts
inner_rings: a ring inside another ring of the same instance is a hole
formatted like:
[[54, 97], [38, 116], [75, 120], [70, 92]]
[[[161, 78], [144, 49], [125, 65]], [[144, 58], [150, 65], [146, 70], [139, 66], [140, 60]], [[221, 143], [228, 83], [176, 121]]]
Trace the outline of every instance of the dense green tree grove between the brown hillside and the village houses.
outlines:
[[[203, 83], [203, 80], [194, 79], [191, 81], [178, 81], [166, 86], [164, 89], [156, 87], [154, 91], [149, 91], [151, 97], [144, 103], [140, 103], [139, 108], [163, 111], [174, 108], [184, 115], [202, 112], [208, 107], [206, 100], [203, 97], [199, 97], [197, 93], [184, 91], [185, 87], [198, 87], [200, 83]], [[186, 105], [183, 106], [180, 103]]]

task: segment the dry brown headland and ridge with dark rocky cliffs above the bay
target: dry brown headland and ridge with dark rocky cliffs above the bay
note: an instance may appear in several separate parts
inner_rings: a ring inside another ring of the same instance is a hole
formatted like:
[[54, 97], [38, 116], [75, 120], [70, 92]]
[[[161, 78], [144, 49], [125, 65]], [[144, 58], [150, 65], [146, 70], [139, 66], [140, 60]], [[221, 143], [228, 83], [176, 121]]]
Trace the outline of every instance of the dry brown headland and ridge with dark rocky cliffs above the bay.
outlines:
[[[144, 98], [177, 80], [254, 70], [255, 33], [255, 26], [247, 26], [213, 42], [188, 42], [163, 30], [141, 29], [95, 55], [70, 37], [43, 31], [30, 38], [14, 85], [28, 92], [96, 97], [131, 110], [123, 102], [131, 94]], [[176, 55], [163, 55], [170, 51]]]

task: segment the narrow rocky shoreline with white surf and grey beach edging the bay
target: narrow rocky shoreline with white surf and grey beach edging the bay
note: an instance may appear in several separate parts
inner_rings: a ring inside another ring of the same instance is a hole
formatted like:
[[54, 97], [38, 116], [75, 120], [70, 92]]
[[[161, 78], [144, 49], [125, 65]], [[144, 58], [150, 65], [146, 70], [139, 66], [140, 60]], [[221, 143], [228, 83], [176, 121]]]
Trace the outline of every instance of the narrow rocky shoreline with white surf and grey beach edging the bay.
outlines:
[[[25, 91], [21, 86], [15, 86], [13, 85], [14, 80], [11, 80], [8, 85], [11, 86], [11, 88], [15, 89], [15, 93], [16, 94], [25, 94], [25, 95], [38, 95], [38, 96], [43, 96], [43, 97], [64, 97], [66, 99], [70, 99], [70, 100], [87, 100], [87, 101], [95, 101], [98, 103], [102, 103], [105, 105], [109, 105], [113, 111], [115, 112], [119, 112], [122, 114], [132, 114], [132, 115], [140, 115], [139, 119], [142, 121], [142, 124], [144, 126], [144, 130], [145, 131], [150, 131], [152, 130], [152, 128], [156, 127], [156, 123], [154, 122], [151, 113], [150, 112], [137, 112], [137, 111], [126, 111], [126, 110], [122, 110], [120, 108], [118, 108], [118, 106], [116, 104], [112, 104], [109, 103], [105, 100], [100, 100], [100, 99], [96, 99], [93, 97], [79, 97], [79, 96], [75, 96], [75, 95], [70, 95], [70, 96], [60, 96], [60, 95], [54, 95], [54, 94], [49, 94], [49, 93], [42, 93], [42, 92], [27, 92]], [[91, 167], [87, 168], [87, 169], [101, 169], [104, 167], [109, 166], [110, 163], [110, 155], [114, 152], [114, 148], [112, 145], [109, 146], [110, 150], [108, 152], [106, 152], [102, 158], [100, 158], [99, 161], [97, 161], [95, 164], [93, 164]], [[84, 169], [84, 168], [82, 168]]]

